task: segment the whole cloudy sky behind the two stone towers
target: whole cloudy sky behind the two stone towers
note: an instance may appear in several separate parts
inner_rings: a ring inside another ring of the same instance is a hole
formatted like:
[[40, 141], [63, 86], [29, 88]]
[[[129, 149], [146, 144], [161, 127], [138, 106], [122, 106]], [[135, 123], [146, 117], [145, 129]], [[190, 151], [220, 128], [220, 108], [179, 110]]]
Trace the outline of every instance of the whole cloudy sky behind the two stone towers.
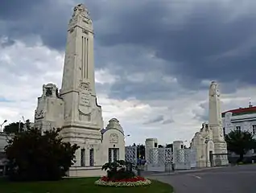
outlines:
[[73, 6], [93, 19], [97, 99], [128, 145], [190, 141], [221, 109], [256, 105], [254, 0], [1, 0], [0, 122], [34, 121], [42, 85], [61, 85]]

